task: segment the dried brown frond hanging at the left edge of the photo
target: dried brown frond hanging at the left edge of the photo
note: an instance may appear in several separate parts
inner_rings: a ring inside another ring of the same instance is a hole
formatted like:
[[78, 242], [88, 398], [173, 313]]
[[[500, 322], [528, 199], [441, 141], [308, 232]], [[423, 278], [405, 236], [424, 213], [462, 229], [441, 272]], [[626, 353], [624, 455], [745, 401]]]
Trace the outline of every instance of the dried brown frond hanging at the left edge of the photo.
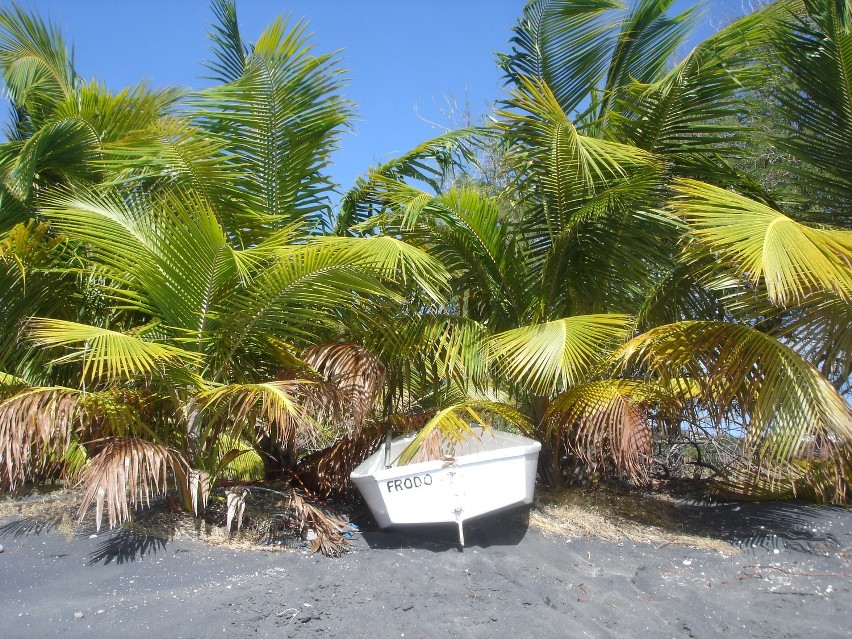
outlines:
[[71, 388], [31, 388], [0, 403], [0, 485], [14, 489], [57, 463], [82, 426], [81, 397]]

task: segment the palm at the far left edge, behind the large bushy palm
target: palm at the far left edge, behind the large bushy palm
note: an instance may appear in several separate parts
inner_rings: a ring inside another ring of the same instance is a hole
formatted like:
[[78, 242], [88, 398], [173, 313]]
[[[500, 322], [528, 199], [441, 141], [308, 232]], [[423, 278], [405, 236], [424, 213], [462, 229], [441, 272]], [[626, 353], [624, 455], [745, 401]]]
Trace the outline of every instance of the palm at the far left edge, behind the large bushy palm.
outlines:
[[[105, 180], [112, 149], [164, 118], [180, 92], [139, 85], [113, 93], [84, 82], [56, 27], [16, 5], [0, 9], [0, 67], [12, 107], [0, 145], [0, 319], [10, 329], [0, 337], [0, 368], [11, 369], [24, 366], [15, 348], [21, 318], [91, 319], [101, 303], [96, 282], [40, 216], [42, 197]], [[30, 361], [29, 378], [46, 381], [38, 377], [44, 362]]]

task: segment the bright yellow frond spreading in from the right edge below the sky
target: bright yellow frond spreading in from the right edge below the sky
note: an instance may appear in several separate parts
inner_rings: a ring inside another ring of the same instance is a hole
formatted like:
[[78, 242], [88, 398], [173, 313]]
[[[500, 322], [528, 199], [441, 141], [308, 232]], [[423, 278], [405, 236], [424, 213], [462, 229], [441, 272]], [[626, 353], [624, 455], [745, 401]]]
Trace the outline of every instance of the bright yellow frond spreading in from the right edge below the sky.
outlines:
[[672, 206], [690, 233], [740, 277], [764, 284], [786, 306], [812, 292], [852, 294], [852, 232], [800, 224], [764, 204], [715, 186], [679, 180]]

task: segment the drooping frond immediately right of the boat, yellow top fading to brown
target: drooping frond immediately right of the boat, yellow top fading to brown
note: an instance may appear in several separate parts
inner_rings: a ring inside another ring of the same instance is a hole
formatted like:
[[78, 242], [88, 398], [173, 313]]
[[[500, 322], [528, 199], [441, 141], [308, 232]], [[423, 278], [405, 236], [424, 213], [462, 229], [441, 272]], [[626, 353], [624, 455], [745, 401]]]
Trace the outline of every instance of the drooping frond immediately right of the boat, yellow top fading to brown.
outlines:
[[653, 441], [651, 427], [636, 402], [644, 386], [624, 380], [574, 386], [551, 404], [550, 428], [566, 433], [569, 448], [587, 464], [611, 461], [620, 473], [645, 483]]

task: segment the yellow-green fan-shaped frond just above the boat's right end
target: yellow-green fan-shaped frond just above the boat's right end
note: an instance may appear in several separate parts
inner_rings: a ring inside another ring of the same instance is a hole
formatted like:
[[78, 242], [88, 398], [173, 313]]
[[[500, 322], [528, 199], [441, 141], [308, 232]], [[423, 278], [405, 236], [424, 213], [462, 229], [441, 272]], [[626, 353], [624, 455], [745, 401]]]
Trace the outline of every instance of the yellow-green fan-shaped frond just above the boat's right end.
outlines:
[[576, 315], [498, 333], [492, 365], [514, 383], [550, 395], [580, 383], [630, 334], [629, 315]]

